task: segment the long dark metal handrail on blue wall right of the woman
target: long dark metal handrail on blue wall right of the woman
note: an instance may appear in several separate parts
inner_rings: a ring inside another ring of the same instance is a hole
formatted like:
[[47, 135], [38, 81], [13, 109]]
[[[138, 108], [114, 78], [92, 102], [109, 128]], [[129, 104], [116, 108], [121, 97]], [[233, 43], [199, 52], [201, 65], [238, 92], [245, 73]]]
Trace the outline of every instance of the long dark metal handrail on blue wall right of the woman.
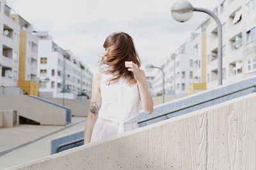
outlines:
[[221, 95], [221, 96], [212, 97], [212, 98], [210, 98], [210, 99], [206, 99], [206, 100], [200, 101], [200, 102], [198, 102], [198, 103], [189, 104], [189, 105], [187, 105], [187, 106], [177, 108], [177, 109], [175, 109], [175, 110], [173, 110], [173, 111], [168, 111], [168, 112], [161, 113], [160, 115], [156, 115], [156, 116], [154, 116], [154, 117], [144, 118], [143, 120], [138, 121], [138, 124], [141, 124], [141, 123], [143, 123], [143, 122], [147, 122], [148, 120], [152, 120], [152, 119], [159, 118], [159, 117], [164, 117], [164, 116], [167, 117], [167, 115], [172, 114], [172, 113], [175, 113], [175, 112], [177, 112], [177, 111], [185, 110], [185, 109], [187, 109], [187, 108], [191, 108], [191, 107], [193, 107], [193, 106], [197, 106], [197, 105], [202, 104], [202, 103], [206, 103], [206, 102], [209, 102], [209, 101], [213, 101], [213, 100], [215, 100], [215, 99], [219, 99], [219, 98], [221, 98], [221, 97], [225, 97], [225, 96], [228, 96], [228, 95], [230, 95], [230, 94], [235, 94], [235, 93], [237, 93], [237, 92], [241, 92], [241, 91], [243, 91], [243, 90], [250, 89], [250, 88], [253, 88], [253, 87], [254, 87], [254, 89], [253, 89], [253, 91], [252, 91], [252, 93], [253, 93], [253, 92], [256, 91], [256, 85], [250, 85], [250, 86], [245, 87], [245, 88], [243, 88], [243, 89], [235, 90], [235, 91], [233, 91], [233, 92], [228, 92], [227, 94], [223, 94], [223, 95]]

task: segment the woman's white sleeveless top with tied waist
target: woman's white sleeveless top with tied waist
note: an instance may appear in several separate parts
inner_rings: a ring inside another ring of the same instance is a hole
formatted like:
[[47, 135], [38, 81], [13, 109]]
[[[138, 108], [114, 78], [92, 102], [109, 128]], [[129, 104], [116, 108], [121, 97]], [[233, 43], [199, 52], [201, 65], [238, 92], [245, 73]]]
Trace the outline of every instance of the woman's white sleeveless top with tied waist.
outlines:
[[124, 77], [106, 85], [114, 74], [101, 73], [101, 106], [98, 117], [118, 125], [118, 134], [124, 132], [124, 124], [137, 121], [140, 113], [138, 84], [129, 85]]

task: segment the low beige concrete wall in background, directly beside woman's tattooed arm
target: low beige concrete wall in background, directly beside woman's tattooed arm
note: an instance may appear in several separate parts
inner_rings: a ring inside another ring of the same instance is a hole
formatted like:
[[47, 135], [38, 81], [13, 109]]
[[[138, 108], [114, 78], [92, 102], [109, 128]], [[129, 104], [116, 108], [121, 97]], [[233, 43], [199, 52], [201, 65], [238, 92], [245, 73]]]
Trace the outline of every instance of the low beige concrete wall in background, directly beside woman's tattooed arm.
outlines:
[[[48, 101], [52, 101], [54, 103], [63, 104], [62, 98], [52, 98], [52, 97], [44, 97]], [[88, 104], [80, 103], [74, 100], [65, 99], [65, 106], [72, 109], [72, 116], [75, 117], [87, 117], [89, 112]]]

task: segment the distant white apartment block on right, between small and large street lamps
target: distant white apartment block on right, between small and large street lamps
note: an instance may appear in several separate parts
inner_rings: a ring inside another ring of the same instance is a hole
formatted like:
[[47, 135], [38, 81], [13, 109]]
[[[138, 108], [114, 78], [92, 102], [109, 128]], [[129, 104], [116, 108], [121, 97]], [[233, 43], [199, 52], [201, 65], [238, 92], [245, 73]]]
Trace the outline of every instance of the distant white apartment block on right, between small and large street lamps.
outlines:
[[[188, 94], [189, 84], [193, 81], [192, 49], [192, 41], [189, 39], [167, 57], [161, 66], [164, 72], [164, 94]], [[162, 93], [163, 74], [159, 69], [155, 69], [153, 74], [153, 96], [156, 96]]]

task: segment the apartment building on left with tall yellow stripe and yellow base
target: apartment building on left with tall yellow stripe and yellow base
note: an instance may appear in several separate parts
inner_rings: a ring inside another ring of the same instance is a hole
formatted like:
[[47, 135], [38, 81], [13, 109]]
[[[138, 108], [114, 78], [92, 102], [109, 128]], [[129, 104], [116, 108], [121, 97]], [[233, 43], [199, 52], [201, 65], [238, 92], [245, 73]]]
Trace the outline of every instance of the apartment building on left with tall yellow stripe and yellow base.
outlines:
[[29, 95], [38, 96], [37, 58], [38, 37], [36, 29], [20, 15], [11, 15], [20, 25], [19, 81], [18, 86]]

